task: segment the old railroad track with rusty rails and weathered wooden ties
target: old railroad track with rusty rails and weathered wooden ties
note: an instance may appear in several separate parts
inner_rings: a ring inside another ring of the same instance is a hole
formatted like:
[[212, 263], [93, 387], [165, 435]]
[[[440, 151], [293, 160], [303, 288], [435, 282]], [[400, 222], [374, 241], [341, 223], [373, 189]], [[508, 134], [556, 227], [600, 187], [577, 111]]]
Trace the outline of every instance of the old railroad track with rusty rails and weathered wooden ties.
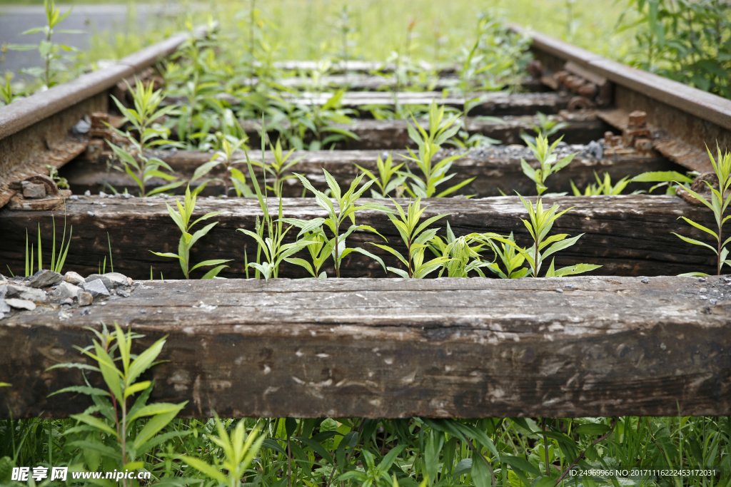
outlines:
[[[474, 150], [452, 166], [457, 173], [452, 183], [474, 177], [463, 191], [475, 199], [429, 199], [425, 218], [447, 214], [444, 222], [458, 236], [513, 232], [518, 242], [525, 241], [523, 205], [518, 196], [500, 195], [534, 190], [520, 159], [534, 166], [537, 161], [519, 144], [520, 134], [539, 123], [539, 112], [565, 124], [557, 136], [563, 134], [571, 146], [562, 150], [579, 153], [553, 176], [552, 191], [570, 191], [572, 181], [583, 187], [594, 180], [594, 171], [608, 172], [613, 180], [646, 171], [708, 172], [705, 146], [731, 149], [731, 101], [532, 35], [534, 61], [522, 91], [485, 96], [471, 112], [474, 117], [466, 120], [469, 133], [504, 142]], [[216, 217], [220, 223], [200, 240], [192, 260], [233, 259], [222, 274], [232, 278], [140, 280], [150, 269], [156, 277], [182, 277], [178, 261], [148, 251], [176, 250], [178, 230], [166, 207], [173, 198], [96, 196], [107, 185], [135, 190], [130, 177], [108, 169], [103, 137], [110, 137], [110, 131], [102, 122], [114, 125], [119, 120], [110, 114], [110, 93], [124, 98], [123, 80], [149, 70], [185, 39], [170, 38], [108, 69], [0, 110], [3, 268], [23, 262], [27, 231], [41, 228], [43, 248], [50, 248], [53, 214], [73, 227], [67, 269], [94, 274], [99, 261], [111, 253], [115, 270], [138, 280], [127, 291], [100, 297], [89, 307], [39, 302], [32, 312], [14, 311], [1, 319], [0, 342], [8, 353], [0, 356], [0, 369], [9, 377], [0, 379], [17, 386], [11, 392], [0, 389], [1, 417], [41, 412], [66, 416], [83, 410], [87, 404], [75, 397], [45, 399], [51, 391], [80, 383], [80, 375], [47, 368], [79, 359], [71, 345], [89, 341], [85, 326], [114, 321], [145, 334], [143, 342], [170, 334], [163, 357], [168, 362], [154, 372], [154, 396], [192, 398], [185, 415], [731, 412], [731, 284], [724, 277], [671, 277], [715, 272], [713, 254], [671, 233], [702, 239], [701, 231], [683, 227], [678, 217], [713, 227], [713, 215], [678, 196], [546, 196], [549, 204], [572, 207], [554, 231], [584, 234], [557, 257], [557, 266], [576, 261], [602, 266], [586, 277], [375, 279], [385, 277], [381, 264], [352, 253], [344, 259], [343, 279], [265, 282], [234, 278], [245, 275], [245, 262], [256, 252], [254, 240], [236, 230], [254, 229], [261, 217], [258, 202], [212, 196], [221, 191], [214, 182], [200, 196], [196, 215], [221, 212]], [[278, 67], [307, 66], [289, 62]], [[393, 96], [376, 91], [389, 80], [366, 74], [373, 68], [351, 64], [344, 74], [328, 77], [325, 86], [349, 88], [343, 104], [363, 117], [368, 115], [364, 105], [425, 105], [432, 99], [461, 104], [442, 93]], [[285, 80], [290, 86], [302, 83], [297, 77]], [[444, 69], [434, 85], [448, 87], [454, 80], [454, 71]], [[322, 104], [330, 94], [303, 93], [298, 103]], [[227, 100], [234, 106], [240, 102]], [[85, 117], [90, 126], [79, 130]], [[243, 120], [242, 125], [251, 146], [257, 147], [260, 123]], [[393, 152], [396, 160], [413, 147], [405, 120], [359, 118], [343, 128], [358, 139], [338, 142], [336, 150], [296, 151], [292, 156], [302, 158], [298, 172], [320, 190], [327, 187], [322, 168], [346, 185], [357, 175], [354, 164], [376, 170], [379, 156]], [[443, 151], [437, 159], [450, 154]], [[185, 150], [155, 155], [183, 178], [192, 177], [211, 158]], [[251, 157], [260, 158], [257, 153]], [[271, 151], [265, 153], [265, 160], [272, 157]], [[61, 168], [72, 197], [44, 177], [47, 164]], [[24, 196], [24, 180], [45, 181], [47, 195]], [[163, 183], [153, 179], [150, 187]], [[285, 216], [323, 215], [313, 198], [298, 197], [302, 187], [297, 180], [285, 183]], [[382, 213], [363, 212], [359, 223], [374, 227], [389, 241], [398, 239]], [[362, 247], [373, 241], [358, 233], [351, 239]], [[386, 265], [398, 265], [387, 252], [369, 250]], [[332, 266], [323, 269], [334, 275]], [[283, 264], [280, 277], [307, 274]]]

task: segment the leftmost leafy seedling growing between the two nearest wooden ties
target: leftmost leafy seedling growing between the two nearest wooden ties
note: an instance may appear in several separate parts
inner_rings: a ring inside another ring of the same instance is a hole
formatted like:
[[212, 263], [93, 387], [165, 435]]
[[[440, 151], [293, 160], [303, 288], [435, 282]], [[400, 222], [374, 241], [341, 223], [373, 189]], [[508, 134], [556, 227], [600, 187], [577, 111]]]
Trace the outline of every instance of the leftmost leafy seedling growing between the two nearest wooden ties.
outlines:
[[225, 262], [230, 262], [231, 259], [213, 259], [208, 261], [202, 261], [198, 264], [192, 265], [192, 262], [190, 261], [191, 248], [193, 247], [193, 245], [195, 245], [195, 242], [197, 242], [198, 239], [200, 239], [201, 237], [205, 237], [205, 235], [208, 234], [208, 232], [211, 231], [211, 229], [213, 229], [213, 227], [216, 226], [219, 222], [214, 221], [213, 223], [208, 223], [208, 225], [204, 226], [202, 229], [197, 230], [191, 234], [190, 232], [192, 231], [192, 228], [196, 225], [196, 223], [208, 220], [208, 218], [221, 214], [221, 212], [208, 212], [202, 217], [198, 218], [193, 223], [190, 223], [193, 212], [195, 210], [196, 197], [197, 194], [191, 193], [189, 187], [186, 188], [185, 199], [183, 199], [183, 203], [181, 203], [179, 199], [175, 198], [175, 204], [178, 205], [177, 212], [175, 212], [175, 210], [170, 207], [170, 204], [165, 203], [165, 206], [167, 207], [167, 212], [168, 214], [170, 214], [170, 218], [173, 218], [175, 225], [178, 226], [178, 229], [180, 229], [182, 234], [181, 239], [178, 242], [178, 253], [159, 253], [152, 252], [152, 250], [151, 252], [154, 253], [156, 256], [177, 258], [178, 261], [180, 261], [181, 269], [183, 269], [183, 275], [185, 275], [186, 279], [190, 279], [190, 272], [198, 269], [199, 267], [216, 266], [206, 272], [203, 277], [201, 277], [201, 279], [213, 279], [213, 277], [219, 275], [219, 272], [221, 272], [221, 270], [228, 267], [221, 264], [224, 264]]

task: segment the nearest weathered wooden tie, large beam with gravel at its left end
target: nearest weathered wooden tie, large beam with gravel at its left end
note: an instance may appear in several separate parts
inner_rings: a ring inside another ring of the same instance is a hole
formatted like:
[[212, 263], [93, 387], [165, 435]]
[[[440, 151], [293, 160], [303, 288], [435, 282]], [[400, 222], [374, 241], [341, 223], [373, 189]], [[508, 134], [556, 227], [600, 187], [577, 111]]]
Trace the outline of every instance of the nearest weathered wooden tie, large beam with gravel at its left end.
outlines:
[[145, 334], [137, 352], [168, 335], [153, 399], [188, 416], [728, 415], [730, 292], [716, 277], [148, 281], [85, 315], [0, 321], [0, 415], [83, 410], [46, 399], [82, 383], [48, 367], [115, 321]]

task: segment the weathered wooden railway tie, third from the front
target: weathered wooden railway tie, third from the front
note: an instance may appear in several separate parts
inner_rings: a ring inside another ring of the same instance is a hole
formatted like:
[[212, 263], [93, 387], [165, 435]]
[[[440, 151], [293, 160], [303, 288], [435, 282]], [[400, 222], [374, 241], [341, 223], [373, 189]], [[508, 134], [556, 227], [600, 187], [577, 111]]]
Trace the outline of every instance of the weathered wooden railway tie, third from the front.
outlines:
[[[303, 174], [309, 180], [314, 181], [316, 188], [320, 191], [325, 191], [327, 185], [325, 185], [322, 177], [322, 169], [330, 172], [341, 186], [349, 185], [360, 172], [355, 167], [355, 164], [377, 175], [378, 168], [376, 166], [376, 159], [379, 156], [382, 158], [383, 156], [387, 157], [388, 154], [389, 152], [381, 150], [295, 151], [289, 160], [294, 161], [298, 158], [302, 158], [302, 160], [296, 166], [292, 167], [288, 174], [292, 174], [292, 172]], [[407, 153], [401, 150], [394, 151], [394, 165], [406, 161], [404, 158], [398, 156], [398, 154], [406, 155]], [[451, 155], [452, 151], [441, 151], [433, 160], [435, 162], [439, 161], [444, 156], [447, 156], [447, 154]], [[190, 179], [195, 169], [201, 164], [210, 161], [212, 155], [193, 150], [177, 150], [156, 151], [155, 156], [162, 158], [163, 161], [170, 164], [175, 169], [178, 177]], [[252, 161], [260, 161], [261, 152], [251, 151], [249, 157]], [[512, 191], [518, 191], [518, 193], [523, 195], [535, 194], [535, 184], [523, 175], [523, 170], [520, 169], [520, 158], [524, 158], [532, 166], [538, 167], [538, 161], [534, 158], [528, 147], [488, 147], [480, 150], [472, 150], [466, 156], [457, 159], [452, 164], [452, 171], [450, 172], [455, 172], [456, 175], [450, 180], [450, 185], [455, 185], [470, 177], [475, 177], [476, 179], [472, 183], [469, 183], [469, 185], [464, 186], [460, 190], [460, 193], [474, 194], [478, 197], [500, 196], [500, 191], [506, 194], [512, 193]], [[246, 158], [243, 153], [238, 153], [234, 159], [243, 161], [235, 167], [242, 169], [248, 176], [249, 172], [246, 170]], [[268, 163], [273, 161], [270, 151], [266, 151], [264, 159]], [[414, 164], [412, 164], [412, 169], [418, 174], [418, 169], [415, 168]], [[552, 175], [548, 182], [550, 183], [551, 191], [565, 191], [570, 194], [572, 191], [571, 181], [578, 188], [582, 189], [590, 183], [596, 183], [594, 171], [599, 173], [599, 175], [607, 172], [612, 177], [612, 181], [616, 182], [622, 177], [635, 176], [641, 172], [671, 171], [678, 169], [681, 168], [662, 157], [642, 158], [636, 156], [596, 159], [580, 154], [566, 168]], [[261, 171], [257, 170], [257, 174], [260, 178], [262, 177]], [[99, 191], [108, 192], [107, 185], [112, 185], [119, 192], [123, 192], [125, 188], [132, 194], [139, 191], [132, 177], [129, 177], [124, 172], [108, 169], [107, 164], [104, 164], [103, 161], [94, 162], [79, 159], [64, 166], [61, 176], [67, 178], [75, 193], [83, 193], [87, 190], [91, 191], [91, 193], [98, 193]], [[208, 177], [225, 177], [223, 165], [213, 169], [213, 171], [208, 173]], [[148, 181], [150, 188], [165, 183], [167, 182], [160, 178], [153, 178]], [[627, 192], [639, 189], [640, 187], [648, 189], [649, 186], [630, 185]], [[224, 191], [223, 183], [221, 181], [212, 181], [208, 183], [204, 191], [203, 194], [205, 195], [221, 194]], [[284, 182], [284, 196], [302, 196], [302, 185], [299, 180], [290, 179]]]

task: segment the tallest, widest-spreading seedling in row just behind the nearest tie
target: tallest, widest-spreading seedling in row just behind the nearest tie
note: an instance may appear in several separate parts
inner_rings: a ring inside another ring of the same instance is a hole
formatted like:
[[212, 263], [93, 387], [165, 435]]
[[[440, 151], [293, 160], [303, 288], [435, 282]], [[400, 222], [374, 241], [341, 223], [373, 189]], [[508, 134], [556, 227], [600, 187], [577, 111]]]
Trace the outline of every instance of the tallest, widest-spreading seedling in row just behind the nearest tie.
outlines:
[[[335, 178], [330, 175], [330, 173], [327, 172], [325, 169], [322, 169], [322, 172], [325, 173], [325, 180], [327, 181], [327, 185], [330, 188], [330, 194], [336, 200], [338, 208], [336, 209], [333, 202], [330, 201], [330, 198], [325, 196], [325, 193], [322, 193], [322, 191], [318, 191], [317, 189], [315, 189], [306, 177], [304, 177], [303, 175], [297, 175], [305, 188], [314, 193], [315, 202], [317, 202], [317, 205], [327, 211], [327, 218], [313, 218], [309, 221], [298, 220], [295, 218], [284, 218], [282, 219], [282, 221], [286, 223], [291, 223], [294, 226], [298, 226], [300, 228], [300, 234], [298, 235], [298, 237], [306, 234], [307, 232], [317, 229], [322, 229], [322, 234], [325, 234], [324, 229], [327, 228], [330, 230], [330, 233], [333, 234], [333, 237], [331, 237], [327, 245], [330, 245], [330, 247], [333, 249], [333, 262], [335, 264], [336, 277], [340, 277], [340, 268], [343, 258], [345, 258], [349, 253], [352, 252], [362, 253], [364, 256], [374, 258], [376, 261], [379, 262], [379, 264], [381, 264], [381, 266], [383, 266], [383, 270], [385, 271], [386, 265], [383, 263], [382, 259], [379, 256], [375, 256], [374, 254], [368, 252], [368, 250], [364, 250], [363, 248], [349, 248], [346, 245], [347, 237], [349, 237], [349, 235], [356, 230], [371, 231], [386, 240], [386, 238], [379, 234], [378, 231], [376, 231], [376, 229], [374, 229], [373, 227], [368, 225], [355, 224], [355, 214], [360, 210], [376, 210], [386, 213], [391, 212], [388, 207], [385, 207], [383, 204], [379, 203], [366, 203], [360, 206], [357, 204], [360, 196], [362, 196], [363, 193], [366, 192], [366, 190], [368, 190], [368, 188], [370, 188], [371, 185], [373, 185], [376, 181], [370, 180], [368, 181], [368, 183], [360, 185], [360, 182], [361, 180], [363, 180], [364, 176], [364, 174], [360, 174], [355, 177], [355, 180], [353, 180], [352, 183], [350, 183], [350, 188], [348, 188], [348, 190], [343, 193]], [[358, 188], [359, 185], [360, 188]], [[346, 231], [341, 234], [340, 226], [346, 220], [349, 220], [351, 225], [348, 227], [348, 229], [346, 229]]]

